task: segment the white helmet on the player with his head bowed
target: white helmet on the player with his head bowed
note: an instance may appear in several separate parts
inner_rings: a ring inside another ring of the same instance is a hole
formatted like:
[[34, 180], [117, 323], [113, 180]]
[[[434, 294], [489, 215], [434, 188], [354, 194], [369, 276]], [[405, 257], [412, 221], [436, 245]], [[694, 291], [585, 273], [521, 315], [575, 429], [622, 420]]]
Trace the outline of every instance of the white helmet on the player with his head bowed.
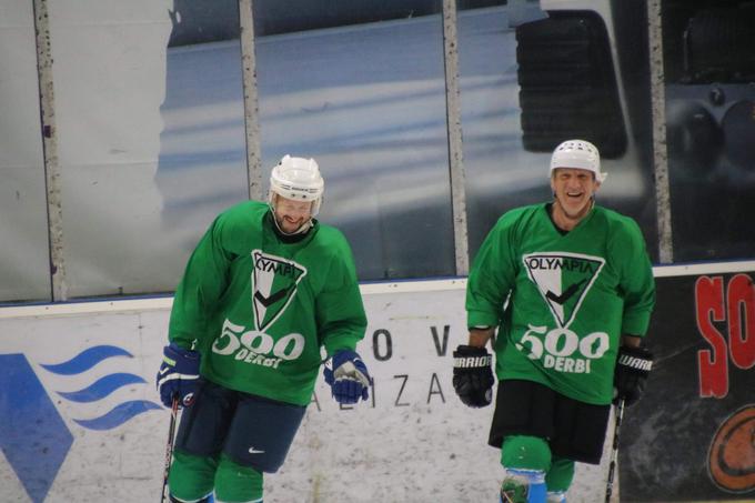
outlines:
[[283, 155], [270, 174], [270, 202], [273, 193], [294, 201], [312, 201], [312, 217], [320, 211], [325, 182], [314, 159]]

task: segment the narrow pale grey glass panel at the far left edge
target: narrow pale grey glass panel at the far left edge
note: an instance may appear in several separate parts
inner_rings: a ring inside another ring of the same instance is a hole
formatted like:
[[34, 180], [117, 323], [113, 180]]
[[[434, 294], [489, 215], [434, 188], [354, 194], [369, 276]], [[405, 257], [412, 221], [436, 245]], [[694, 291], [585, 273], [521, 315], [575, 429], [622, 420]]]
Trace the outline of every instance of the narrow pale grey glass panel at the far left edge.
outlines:
[[0, 22], [0, 302], [49, 301], [34, 17], [17, 3]]

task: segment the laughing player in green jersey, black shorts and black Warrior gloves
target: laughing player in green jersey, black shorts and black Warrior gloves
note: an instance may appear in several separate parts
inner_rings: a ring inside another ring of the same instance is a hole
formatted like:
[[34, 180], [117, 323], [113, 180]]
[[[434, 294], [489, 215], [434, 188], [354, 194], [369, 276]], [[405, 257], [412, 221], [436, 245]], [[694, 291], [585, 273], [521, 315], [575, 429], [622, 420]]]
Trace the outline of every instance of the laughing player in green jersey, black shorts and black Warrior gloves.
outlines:
[[634, 220], [595, 204], [604, 178], [592, 143], [560, 144], [553, 201], [505, 213], [470, 272], [453, 384], [470, 406], [492, 402], [497, 328], [489, 443], [504, 503], [565, 502], [574, 462], [600, 463], [612, 401], [636, 401], [652, 366], [651, 263]]

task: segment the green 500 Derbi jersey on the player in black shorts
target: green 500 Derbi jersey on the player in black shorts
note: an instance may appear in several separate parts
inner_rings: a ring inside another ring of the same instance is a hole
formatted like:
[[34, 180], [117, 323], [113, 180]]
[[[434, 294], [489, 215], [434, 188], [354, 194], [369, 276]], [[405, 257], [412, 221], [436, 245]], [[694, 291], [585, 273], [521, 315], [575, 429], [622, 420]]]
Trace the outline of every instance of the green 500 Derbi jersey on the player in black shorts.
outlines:
[[499, 326], [495, 372], [611, 403], [622, 334], [644, 336], [655, 282], [636, 222], [595, 205], [561, 233], [547, 204], [505, 213], [466, 289], [469, 326]]

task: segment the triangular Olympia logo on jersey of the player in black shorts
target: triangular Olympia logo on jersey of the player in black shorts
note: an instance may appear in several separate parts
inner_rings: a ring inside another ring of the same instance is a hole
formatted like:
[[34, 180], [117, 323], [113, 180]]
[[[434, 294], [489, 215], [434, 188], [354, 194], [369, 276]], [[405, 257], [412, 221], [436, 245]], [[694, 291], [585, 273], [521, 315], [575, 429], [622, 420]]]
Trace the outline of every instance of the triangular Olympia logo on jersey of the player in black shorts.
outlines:
[[530, 253], [522, 260], [561, 328], [572, 323], [605, 264], [601, 256], [566, 252]]

